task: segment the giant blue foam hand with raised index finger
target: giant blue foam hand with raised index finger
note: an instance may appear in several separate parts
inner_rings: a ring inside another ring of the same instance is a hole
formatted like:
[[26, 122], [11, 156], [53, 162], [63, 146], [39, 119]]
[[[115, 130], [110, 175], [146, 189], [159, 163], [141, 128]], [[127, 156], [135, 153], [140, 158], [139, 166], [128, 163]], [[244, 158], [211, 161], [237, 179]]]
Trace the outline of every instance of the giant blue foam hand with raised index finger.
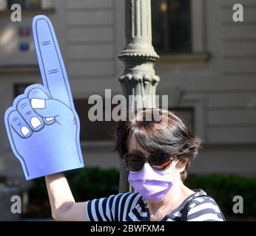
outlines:
[[26, 179], [84, 167], [80, 123], [50, 20], [33, 18], [33, 39], [43, 85], [27, 87], [5, 112], [13, 153]]

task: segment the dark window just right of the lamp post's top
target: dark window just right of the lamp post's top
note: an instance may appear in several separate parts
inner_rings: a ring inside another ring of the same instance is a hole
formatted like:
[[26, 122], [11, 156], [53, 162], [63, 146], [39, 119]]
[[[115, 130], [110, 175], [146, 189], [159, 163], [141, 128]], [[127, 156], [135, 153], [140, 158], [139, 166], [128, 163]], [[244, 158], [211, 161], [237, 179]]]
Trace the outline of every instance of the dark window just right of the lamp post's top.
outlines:
[[191, 1], [153, 0], [152, 44], [161, 54], [192, 52]]

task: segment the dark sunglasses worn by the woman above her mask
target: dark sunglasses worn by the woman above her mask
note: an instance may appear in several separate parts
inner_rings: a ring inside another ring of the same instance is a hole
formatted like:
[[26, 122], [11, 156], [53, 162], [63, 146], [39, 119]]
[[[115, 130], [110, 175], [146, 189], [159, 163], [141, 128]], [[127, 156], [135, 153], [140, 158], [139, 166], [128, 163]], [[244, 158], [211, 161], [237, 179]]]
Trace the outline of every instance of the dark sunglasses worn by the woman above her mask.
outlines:
[[124, 162], [130, 171], [141, 171], [146, 162], [154, 170], [166, 170], [172, 163], [173, 158], [166, 153], [153, 153], [148, 158], [143, 153], [125, 153]]

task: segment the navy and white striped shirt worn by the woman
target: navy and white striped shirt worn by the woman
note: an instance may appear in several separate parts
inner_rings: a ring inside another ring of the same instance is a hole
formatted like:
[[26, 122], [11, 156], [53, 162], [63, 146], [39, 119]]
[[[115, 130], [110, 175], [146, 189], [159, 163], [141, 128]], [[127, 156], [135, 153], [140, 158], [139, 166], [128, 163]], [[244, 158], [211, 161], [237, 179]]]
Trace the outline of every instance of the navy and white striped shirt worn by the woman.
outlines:
[[[189, 204], [187, 221], [223, 221], [216, 202], [203, 190], [195, 190], [177, 209], [167, 214], [161, 221], [181, 221], [181, 213], [186, 202], [198, 196]], [[200, 197], [201, 196], [201, 197]], [[146, 200], [138, 192], [119, 193], [107, 198], [86, 202], [87, 217], [90, 221], [149, 221]]]

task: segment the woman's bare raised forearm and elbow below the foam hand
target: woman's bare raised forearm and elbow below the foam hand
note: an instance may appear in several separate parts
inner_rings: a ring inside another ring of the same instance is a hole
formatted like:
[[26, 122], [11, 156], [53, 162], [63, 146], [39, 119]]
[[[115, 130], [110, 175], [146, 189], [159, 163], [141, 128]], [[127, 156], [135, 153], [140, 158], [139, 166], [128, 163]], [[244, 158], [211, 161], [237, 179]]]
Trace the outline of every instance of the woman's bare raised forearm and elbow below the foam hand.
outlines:
[[63, 173], [45, 176], [53, 218], [56, 221], [88, 221], [85, 202], [75, 203]]

